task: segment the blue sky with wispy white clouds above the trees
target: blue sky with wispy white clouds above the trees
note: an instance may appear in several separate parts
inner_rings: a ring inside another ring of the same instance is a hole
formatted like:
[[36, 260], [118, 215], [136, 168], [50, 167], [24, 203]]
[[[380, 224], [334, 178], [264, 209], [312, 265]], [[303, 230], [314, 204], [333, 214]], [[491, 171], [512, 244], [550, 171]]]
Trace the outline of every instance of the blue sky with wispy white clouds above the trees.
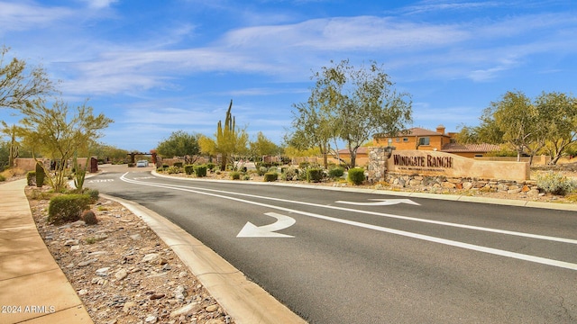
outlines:
[[577, 85], [573, 0], [0, 0], [0, 44], [112, 118], [102, 141], [144, 151], [214, 135], [231, 99], [252, 139], [279, 144], [331, 59], [382, 64], [412, 95], [408, 126], [430, 130], [477, 125], [509, 90]]

